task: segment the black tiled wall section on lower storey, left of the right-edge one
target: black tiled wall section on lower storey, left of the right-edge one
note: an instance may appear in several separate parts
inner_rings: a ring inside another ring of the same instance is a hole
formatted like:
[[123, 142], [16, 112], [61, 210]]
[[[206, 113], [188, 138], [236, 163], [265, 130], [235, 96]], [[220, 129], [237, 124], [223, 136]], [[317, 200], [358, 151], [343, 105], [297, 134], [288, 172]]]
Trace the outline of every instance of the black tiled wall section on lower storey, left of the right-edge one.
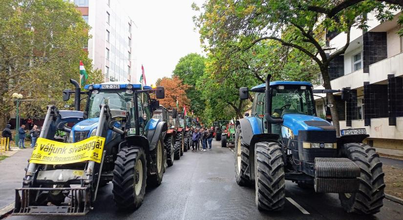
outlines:
[[388, 117], [388, 85], [364, 82], [364, 125], [371, 126], [371, 118]]

